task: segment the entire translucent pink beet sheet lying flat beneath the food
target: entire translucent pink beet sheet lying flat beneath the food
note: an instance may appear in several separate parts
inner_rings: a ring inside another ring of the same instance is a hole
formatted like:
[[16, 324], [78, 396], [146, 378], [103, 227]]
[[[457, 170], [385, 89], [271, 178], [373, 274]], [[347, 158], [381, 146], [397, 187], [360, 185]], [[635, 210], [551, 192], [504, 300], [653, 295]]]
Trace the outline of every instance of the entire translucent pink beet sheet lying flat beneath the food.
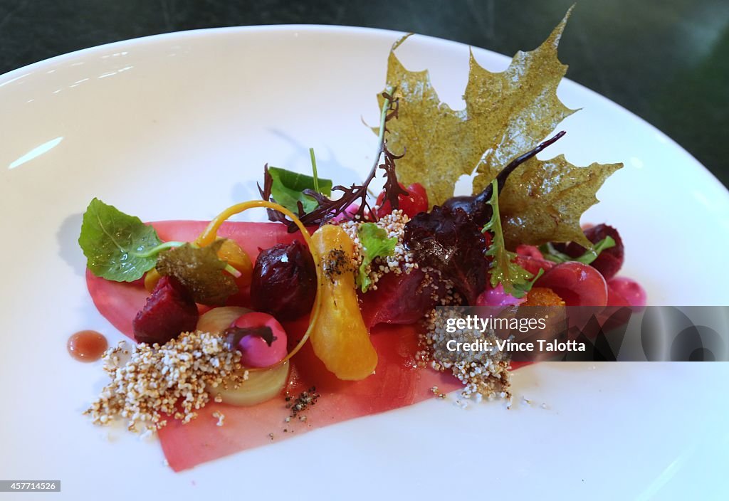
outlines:
[[[205, 221], [163, 221], [153, 223], [162, 240], [195, 240], [205, 229]], [[228, 237], [255, 259], [259, 248], [295, 240], [295, 234], [275, 223], [231, 223], [222, 225], [219, 236]], [[133, 339], [132, 320], [144, 306], [148, 292], [142, 280], [117, 283], [87, 272], [87, 285], [95, 306], [109, 322]], [[296, 344], [306, 329], [306, 318], [285, 323], [289, 348]], [[375, 374], [362, 381], [337, 379], [316, 358], [311, 344], [306, 344], [294, 358], [286, 391], [293, 398], [316, 387], [321, 395], [316, 405], [286, 423], [291, 413], [284, 395], [252, 407], [235, 407], [209, 403], [198, 412], [198, 418], [187, 425], [168, 419], [160, 432], [165, 457], [176, 471], [224, 457], [238, 451], [281, 441], [316, 428], [356, 417], [378, 414], [434, 398], [432, 387], [450, 392], [462, 387], [453, 376], [431, 369], [417, 368], [418, 326], [377, 326], [372, 342], [378, 352]], [[213, 414], [225, 415], [225, 425], [217, 426]], [[300, 417], [305, 416], [305, 420]], [[284, 429], [286, 431], [284, 432]], [[273, 437], [273, 438], [272, 438]]]

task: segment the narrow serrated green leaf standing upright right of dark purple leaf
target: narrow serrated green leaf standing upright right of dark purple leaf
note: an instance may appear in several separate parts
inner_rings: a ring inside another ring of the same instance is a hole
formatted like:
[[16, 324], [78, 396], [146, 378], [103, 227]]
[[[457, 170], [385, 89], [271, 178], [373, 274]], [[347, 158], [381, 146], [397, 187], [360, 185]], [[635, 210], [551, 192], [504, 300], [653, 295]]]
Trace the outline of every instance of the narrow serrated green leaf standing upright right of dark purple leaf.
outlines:
[[493, 209], [491, 221], [483, 226], [483, 231], [491, 232], [491, 246], [486, 250], [486, 256], [491, 256], [491, 266], [488, 268], [491, 275], [491, 287], [502, 284], [504, 292], [516, 298], [521, 298], [531, 290], [534, 277], [530, 272], [513, 262], [515, 255], [506, 250], [504, 243], [504, 232], [502, 230], [501, 217], [499, 216], [499, 189], [496, 186], [496, 179], [491, 181], [494, 191], [488, 205]]

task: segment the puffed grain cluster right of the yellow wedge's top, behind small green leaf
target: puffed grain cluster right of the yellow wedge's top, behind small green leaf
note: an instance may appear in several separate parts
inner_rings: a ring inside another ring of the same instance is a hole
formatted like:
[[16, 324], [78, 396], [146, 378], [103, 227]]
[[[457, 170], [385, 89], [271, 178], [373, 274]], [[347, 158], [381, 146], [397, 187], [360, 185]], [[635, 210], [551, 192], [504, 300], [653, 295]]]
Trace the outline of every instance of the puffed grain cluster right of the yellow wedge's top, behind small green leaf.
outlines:
[[[389, 238], [397, 238], [394, 253], [385, 258], [376, 258], [365, 270], [370, 275], [373, 291], [377, 290], [377, 283], [380, 278], [389, 272], [399, 275], [402, 272], [408, 273], [411, 269], [416, 269], [418, 264], [413, 258], [413, 253], [405, 248], [402, 239], [405, 236], [405, 224], [408, 224], [410, 218], [402, 210], [395, 209], [392, 213], [382, 216], [379, 221], [374, 222], [377, 226], [385, 229]], [[359, 225], [364, 221], [342, 221], [339, 223], [341, 228], [349, 235], [354, 242], [354, 269], [359, 269], [362, 264], [362, 244], [359, 242]]]

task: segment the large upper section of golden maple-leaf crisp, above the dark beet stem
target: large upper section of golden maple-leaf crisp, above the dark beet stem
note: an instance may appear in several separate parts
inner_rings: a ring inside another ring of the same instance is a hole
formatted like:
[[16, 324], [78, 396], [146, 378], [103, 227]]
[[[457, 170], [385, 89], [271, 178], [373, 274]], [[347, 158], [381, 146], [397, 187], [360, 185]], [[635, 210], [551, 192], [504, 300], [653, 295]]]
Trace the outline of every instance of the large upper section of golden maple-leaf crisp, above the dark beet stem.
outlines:
[[420, 182], [431, 203], [441, 205], [453, 196], [458, 178], [478, 166], [477, 172], [485, 174], [475, 180], [474, 190], [480, 192], [507, 163], [572, 114], [555, 93], [567, 68], [557, 59], [557, 45], [570, 12], [542, 45], [517, 52], [502, 73], [482, 68], [471, 54], [462, 110], [440, 101], [427, 71], [402, 66], [394, 51], [403, 40], [394, 44], [387, 88], [401, 99], [399, 120], [388, 127], [389, 146], [407, 149], [397, 163], [403, 184]]

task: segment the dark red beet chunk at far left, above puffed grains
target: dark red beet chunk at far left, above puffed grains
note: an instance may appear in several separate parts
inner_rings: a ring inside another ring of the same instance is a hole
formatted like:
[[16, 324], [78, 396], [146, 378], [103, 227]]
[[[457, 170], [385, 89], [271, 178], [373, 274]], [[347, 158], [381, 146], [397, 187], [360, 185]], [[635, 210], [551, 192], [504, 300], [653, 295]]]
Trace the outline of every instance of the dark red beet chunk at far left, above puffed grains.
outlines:
[[162, 277], [132, 323], [140, 343], [164, 344], [198, 325], [198, 307], [192, 296], [173, 277]]

